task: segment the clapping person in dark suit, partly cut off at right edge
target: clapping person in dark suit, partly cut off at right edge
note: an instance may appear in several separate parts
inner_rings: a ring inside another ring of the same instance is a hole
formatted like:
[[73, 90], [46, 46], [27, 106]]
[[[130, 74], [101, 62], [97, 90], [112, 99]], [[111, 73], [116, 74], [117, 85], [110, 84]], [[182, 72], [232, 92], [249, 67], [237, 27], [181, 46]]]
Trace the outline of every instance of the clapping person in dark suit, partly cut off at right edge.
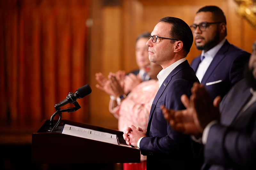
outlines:
[[203, 170], [256, 169], [256, 40], [244, 77], [221, 102], [217, 96], [212, 103], [204, 86], [194, 83], [190, 98], [181, 96], [185, 110], [162, 107], [173, 129], [202, 135]]

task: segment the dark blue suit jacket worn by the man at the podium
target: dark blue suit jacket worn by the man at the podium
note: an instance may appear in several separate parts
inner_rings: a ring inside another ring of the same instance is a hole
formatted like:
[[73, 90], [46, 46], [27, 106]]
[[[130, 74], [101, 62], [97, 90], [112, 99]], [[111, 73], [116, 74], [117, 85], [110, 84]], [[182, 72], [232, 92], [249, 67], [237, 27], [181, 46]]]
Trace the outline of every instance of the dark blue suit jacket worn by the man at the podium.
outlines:
[[[184, 169], [187, 160], [191, 161], [190, 138], [176, 132], [164, 119], [161, 105], [175, 110], [185, 109], [180, 101], [182, 94], [191, 95], [194, 82], [199, 82], [194, 70], [186, 60], [180, 63], [159, 88], [153, 101], [147, 128], [147, 137], [140, 141], [141, 154], [147, 156], [147, 169]], [[168, 165], [169, 164], [169, 165]]]

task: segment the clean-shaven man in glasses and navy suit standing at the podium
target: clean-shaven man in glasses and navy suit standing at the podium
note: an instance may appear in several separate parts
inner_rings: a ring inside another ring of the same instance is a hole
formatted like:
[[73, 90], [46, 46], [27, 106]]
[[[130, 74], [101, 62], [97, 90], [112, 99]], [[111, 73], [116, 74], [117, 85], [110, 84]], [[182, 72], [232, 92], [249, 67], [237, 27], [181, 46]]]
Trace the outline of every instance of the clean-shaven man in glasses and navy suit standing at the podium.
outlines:
[[189, 26], [181, 19], [159, 20], [147, 42], [149, 60], [162, 66], [159, 90], [153, 101], [147, 131], [133, 125], [124, 130], [128, 145], [138, 146], [147, 155], [147, 169], [193, 169], [192, 150], [188, 135], [176, 132], [166, 122], [161, 105], [172, 109], [185, 108], [180, 96], [190, 96], [194, 82], [199, 82], [186, 56], [193, 43]]

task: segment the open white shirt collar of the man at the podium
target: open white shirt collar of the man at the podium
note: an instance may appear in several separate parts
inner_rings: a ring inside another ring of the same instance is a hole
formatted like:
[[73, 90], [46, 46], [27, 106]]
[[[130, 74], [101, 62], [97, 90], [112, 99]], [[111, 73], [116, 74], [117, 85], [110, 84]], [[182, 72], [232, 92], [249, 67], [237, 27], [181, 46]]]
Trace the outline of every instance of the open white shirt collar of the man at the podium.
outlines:
[[163, 84], [165, 78], [167, 78], [167, 76], [172, 72], [172, 70], [175, 69], [180, 63], [182, 63], [184, 61], [186, 61], [186, 57], [176, 61], [175, 63], [173, 63], [172, 65], [168, 66], [167, 68], [161, 70], [158, 73], [157, 78], [159, 81], [159, 88]]

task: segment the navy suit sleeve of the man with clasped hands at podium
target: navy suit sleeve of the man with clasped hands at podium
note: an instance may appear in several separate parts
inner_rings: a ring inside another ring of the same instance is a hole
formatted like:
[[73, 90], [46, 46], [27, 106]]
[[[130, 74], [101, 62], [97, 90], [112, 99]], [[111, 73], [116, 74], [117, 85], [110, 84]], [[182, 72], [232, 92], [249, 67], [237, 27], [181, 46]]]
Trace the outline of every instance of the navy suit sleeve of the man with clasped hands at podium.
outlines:
[[[175, 110], [185, 109], [180, 97], [182, 94], [191, 95], [192, 84], [184, 79], [176, 79], [171, 81], [167, 87], [169, 88], [165, 89], [158, 103]], [[170, 124], [166, 122], [160, 105], [156, 107], [153, 113], [156, 122], [152, 120], [151, 124], [152, 128], [157, 129], [156, 137], [144, 137], [140, 141], [140, 149], [143, 155], [179, 153], [180, 150], [184, 150], [184, 144], [189, 140], [189, 136], [173, 130]]]

